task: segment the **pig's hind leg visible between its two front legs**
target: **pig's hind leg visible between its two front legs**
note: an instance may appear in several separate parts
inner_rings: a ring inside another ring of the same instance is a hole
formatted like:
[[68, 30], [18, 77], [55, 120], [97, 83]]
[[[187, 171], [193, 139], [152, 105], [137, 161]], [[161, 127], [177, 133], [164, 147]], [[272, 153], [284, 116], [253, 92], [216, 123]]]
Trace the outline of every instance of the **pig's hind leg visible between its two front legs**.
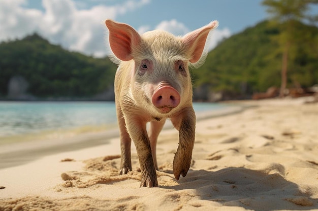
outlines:
[[165, 124], [166, 119], [160, 120], [160, 121], [151, 121], [150, 122], [150, 128], [149, 128], [149, 140], [150, 140], [150, 146], [151, 146], [151, 152], [154, 162], [154, 167], [156, 170], [158, 170], [158, 164], [157, 164], [157, 156], [156, 156], [156, 145], [157, 145], [157, 138], [160, 134], [161, 130], [163, 129], [163, 126]]

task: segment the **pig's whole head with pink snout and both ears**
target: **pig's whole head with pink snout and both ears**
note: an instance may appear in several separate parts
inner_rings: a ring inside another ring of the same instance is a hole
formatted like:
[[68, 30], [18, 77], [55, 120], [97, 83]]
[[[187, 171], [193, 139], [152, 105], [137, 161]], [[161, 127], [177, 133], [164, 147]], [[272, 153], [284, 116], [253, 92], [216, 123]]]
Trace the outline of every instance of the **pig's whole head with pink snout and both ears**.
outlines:
[[205, 59], [204, 47], [217, 21], [183, 37], [154, 30], [140, 35], [123, 23], [106, 20], [109, 44], [122, 68], [131, 73], [130, 96], [134, 103], [155, 116], [169, 117], [192, 104], [188, 66]]

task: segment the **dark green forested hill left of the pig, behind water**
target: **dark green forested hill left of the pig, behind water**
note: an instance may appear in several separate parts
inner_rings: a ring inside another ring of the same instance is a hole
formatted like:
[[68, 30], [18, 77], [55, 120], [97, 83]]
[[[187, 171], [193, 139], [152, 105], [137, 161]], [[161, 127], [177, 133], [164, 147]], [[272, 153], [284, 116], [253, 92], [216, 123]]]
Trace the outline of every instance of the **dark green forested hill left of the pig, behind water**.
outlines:
[[[116, 65], [108, 58], [69, 52], [51, 45], [38, 34], [0, 44], [3, 99], [10, 92], [10, 80], [22, 78], [27, 96], [33, 96], [31, 99], [92, 99], [109, 92], [108, 97], [101, 98], [112, 100], [115, 71]], [[25, 93], [18, 92], [12, 99], [20, 99], [21, 94]]]

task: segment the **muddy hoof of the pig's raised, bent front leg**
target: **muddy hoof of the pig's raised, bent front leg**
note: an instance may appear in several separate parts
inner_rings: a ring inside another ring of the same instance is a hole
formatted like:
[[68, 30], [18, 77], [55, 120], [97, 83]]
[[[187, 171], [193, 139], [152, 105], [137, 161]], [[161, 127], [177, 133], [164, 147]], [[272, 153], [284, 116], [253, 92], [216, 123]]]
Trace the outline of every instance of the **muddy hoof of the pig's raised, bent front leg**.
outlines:
[[191, 165], [191, 158], [191, 155], [181, 156], [179, 150], [177, 150], [173, 160], [173, 174], [176, 180], [179, 180], [180, 175], [182, 175], [182, 177], [186, 176]]

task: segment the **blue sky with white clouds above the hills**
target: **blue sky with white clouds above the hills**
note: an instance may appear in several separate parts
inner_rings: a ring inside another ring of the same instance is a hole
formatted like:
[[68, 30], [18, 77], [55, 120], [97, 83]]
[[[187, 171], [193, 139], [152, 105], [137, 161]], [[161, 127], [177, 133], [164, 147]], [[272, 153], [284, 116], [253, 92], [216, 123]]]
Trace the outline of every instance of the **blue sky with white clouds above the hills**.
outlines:
[[175, 35], [213, 20], [209, 49], [218, 41], [268, 18], [262, 0], [0, 0], [0, 41], [34, 32], [52, 44], [94, 57], [107, 54], [106, 19], [139, 33], [162, 29]]

